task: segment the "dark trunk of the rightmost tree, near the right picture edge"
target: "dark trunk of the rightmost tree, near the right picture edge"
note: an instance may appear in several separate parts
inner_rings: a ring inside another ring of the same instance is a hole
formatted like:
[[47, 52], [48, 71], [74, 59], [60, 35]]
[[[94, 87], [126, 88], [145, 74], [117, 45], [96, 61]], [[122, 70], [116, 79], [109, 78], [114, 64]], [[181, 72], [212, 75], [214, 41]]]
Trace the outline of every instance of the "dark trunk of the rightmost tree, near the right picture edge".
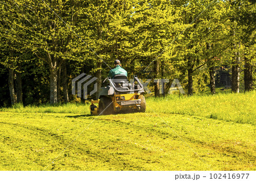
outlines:
[[253, 65], [251, 65], [250, 60], [245, 56], [245, 69], [244, 69], [245, 77], [243, 80], [245, 81], [245, 91], [253, 90]]

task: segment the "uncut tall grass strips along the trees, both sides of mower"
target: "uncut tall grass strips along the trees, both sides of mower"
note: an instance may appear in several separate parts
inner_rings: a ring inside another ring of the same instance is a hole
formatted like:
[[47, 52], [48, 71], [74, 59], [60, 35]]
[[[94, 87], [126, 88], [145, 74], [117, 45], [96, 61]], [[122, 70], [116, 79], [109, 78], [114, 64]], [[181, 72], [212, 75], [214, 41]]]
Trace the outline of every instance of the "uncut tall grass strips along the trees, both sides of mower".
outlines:
[[[207, 117], [236, 123], [256, 124], [256, 91], [246, 93], [224, 93], [216, 95], [179, 96], [146, 99], [146, 112], [175, 113]], [[10, 108], [0, 108], [5, 112], [77, 113], [89, 114], [89, 104], [68, 103], [51, 106], [26, 106], [16, 104]]]

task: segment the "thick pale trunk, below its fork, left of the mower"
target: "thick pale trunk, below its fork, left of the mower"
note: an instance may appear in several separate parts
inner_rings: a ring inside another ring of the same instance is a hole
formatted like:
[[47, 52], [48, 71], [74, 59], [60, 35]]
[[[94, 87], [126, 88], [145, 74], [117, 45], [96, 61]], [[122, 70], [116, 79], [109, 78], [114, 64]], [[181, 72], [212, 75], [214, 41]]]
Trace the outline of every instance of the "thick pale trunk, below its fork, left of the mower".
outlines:
[[57, 103], [57, 69], [50, 68], [50, 103]]

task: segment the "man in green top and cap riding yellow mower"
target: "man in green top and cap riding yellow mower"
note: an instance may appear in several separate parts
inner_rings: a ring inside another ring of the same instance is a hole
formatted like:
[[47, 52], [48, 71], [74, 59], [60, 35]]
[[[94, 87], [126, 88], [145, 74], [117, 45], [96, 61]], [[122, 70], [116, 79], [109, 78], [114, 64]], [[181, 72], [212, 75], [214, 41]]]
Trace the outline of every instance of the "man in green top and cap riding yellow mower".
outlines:
[[[92, 115], [110, 115], [117, 112], [145, 112], [146, 100], [143, 85], [137, 76], [132, 83], [127, 81], [127, 71], [121, 67], [119, 60], [114, 61], [115, 68], [109, 71], [108, 86], [101, 87], [98, 100], [91, 100]], [[96, 106], [95, 104], [98, 104]]]

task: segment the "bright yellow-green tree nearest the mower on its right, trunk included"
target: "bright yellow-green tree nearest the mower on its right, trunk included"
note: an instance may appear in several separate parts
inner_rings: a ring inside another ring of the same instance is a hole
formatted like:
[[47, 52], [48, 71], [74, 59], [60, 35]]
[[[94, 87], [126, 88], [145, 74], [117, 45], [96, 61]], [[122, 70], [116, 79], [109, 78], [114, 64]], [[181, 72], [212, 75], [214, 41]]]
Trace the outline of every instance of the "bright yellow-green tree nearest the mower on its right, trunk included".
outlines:
[[[179, 10], [171, 1], [146, 1], [134, 3], [131, 16], [134, 27], [134, 57], [141, 65], [138, 73], [147, 77], [159, 79], [163, 75], [163, 64], [168, 65], [174, 57], [176, 32], [183, 27], [179, 23]], [[154, 85], [155, 96], [160, 94], [160, 85]]]

